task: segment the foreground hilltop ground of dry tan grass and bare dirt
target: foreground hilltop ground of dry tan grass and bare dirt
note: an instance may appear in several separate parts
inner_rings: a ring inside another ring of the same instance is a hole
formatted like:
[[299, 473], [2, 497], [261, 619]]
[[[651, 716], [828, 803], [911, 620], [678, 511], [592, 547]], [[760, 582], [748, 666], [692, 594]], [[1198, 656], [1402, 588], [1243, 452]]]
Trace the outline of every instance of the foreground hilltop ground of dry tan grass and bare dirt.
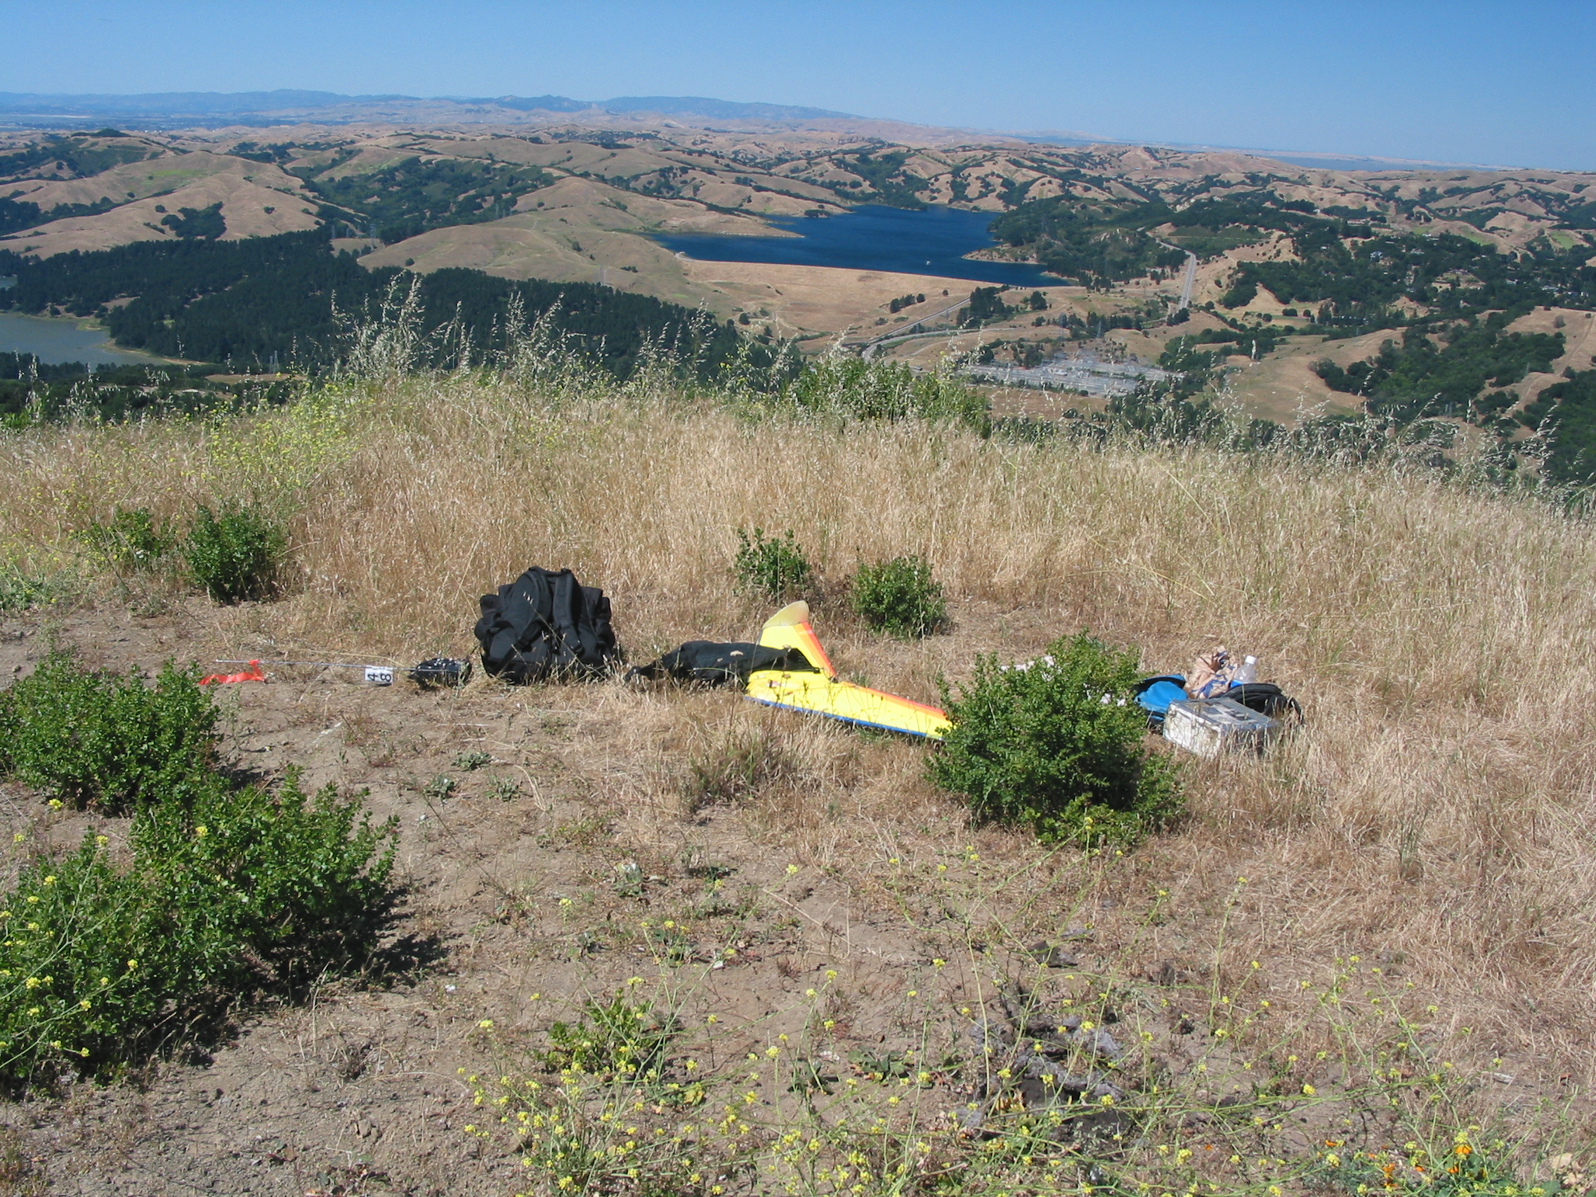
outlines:
[[[1149, 672], [1218, 642], [1254, 653], [1307, 710], [1261, 760], [1187, 760], [1178, 824], [1082, 855], [972, 825], [926, 777], [934, 747], [723, 691], [439, 697], [278, 669], [223, 699], [227, 750], [370, 787], [401, 819], [407, 930], [437, 954], [260, 1010], [139, 1090], [13, 1106], [19, 1186], [1428, 1192], [1414, 1162], [1478, 1144], [1497, 1171], [1476, 1191], [1585, 1187], [1585, 519], [1400, 468], [750, 420], [658, 378], [373, 372], [238, 420], [8, 433], [0, 461], [16, 568], [77, 595], [13, 619], [18, 672], [41, 637], [115, 667], [464, 654], [477, 595], [533, 563], [603, 586], [645, 659], [758, 627], [768, 606], [729, 571], [758, 525], [811, 554], [847, 677], [937, 701], [980, 653], [1090, 629]], [[83, 555], [117, 508], [185, 522], [223, 500], [287, 514], [279, 602], [217, 608]], [[860, 562], [905, 552], [951, 598], [915, 643], [844, 602]], [[85, 827], [16, 785], [6, 819], [29, 844]], [[616, 991], [669, 1049], [538, 1055]], [[1053, 1080], [993, 1095], [1034, 1013], [1065, 1036], [1071, 1007], [1087, 1021], [1060, 1050], [1109, 1087], [1053, 1133]], [[1128, 1049], [1112, 1068], [1092, 1018]], [[627, 1073], [656, 1050], [664, 1077]]]

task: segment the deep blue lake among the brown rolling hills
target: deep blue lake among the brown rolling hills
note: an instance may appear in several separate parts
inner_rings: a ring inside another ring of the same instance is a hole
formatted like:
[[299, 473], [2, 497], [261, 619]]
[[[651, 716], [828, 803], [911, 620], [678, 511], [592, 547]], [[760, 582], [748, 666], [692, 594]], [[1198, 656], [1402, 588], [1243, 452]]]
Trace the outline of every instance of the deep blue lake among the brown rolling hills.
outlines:
[[1007, 282], [1013, 287], [1057, 287], [1063, 279], [1039, 267], [1013, 262], [970, 262], [974, 249], [990, 249], [986, 227], [993, 212], [956, 207], [903, 207], [865, 204], [844, 215], [771, 220], [798, 236], [709, 236], [702, 233], [656, 235], [672, 252], [702, 262], [769, 262], [785, 267], [846, 267], [891, 270], [903, 275], [940, 275], [974, 282]]

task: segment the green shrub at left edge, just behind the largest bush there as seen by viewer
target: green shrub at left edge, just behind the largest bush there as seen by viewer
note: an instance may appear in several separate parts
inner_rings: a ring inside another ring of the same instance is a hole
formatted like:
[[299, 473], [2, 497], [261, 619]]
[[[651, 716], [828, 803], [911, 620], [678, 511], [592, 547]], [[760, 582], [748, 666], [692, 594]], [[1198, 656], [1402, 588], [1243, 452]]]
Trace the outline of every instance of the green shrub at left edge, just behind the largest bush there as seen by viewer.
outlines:
[[83, 669], [53, 650], [0, 694], [0, 766], [107, 814], [188, 790], [215, 755], [217, 710], [198, 677], [168, 661], [152, 689], [137, 669]]

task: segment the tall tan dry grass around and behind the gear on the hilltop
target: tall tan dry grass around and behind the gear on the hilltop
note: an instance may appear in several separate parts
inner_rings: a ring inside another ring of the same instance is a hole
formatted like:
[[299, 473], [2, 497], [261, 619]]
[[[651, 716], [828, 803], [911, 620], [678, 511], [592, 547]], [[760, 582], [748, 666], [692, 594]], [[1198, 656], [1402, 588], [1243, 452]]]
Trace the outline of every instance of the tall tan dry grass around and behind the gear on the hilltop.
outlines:
[[[1242, 646], [1304, 701], [1307, 731], [1264, 763], [1192, 768], [1191, 820], [1111, 870], [1104, 900], [1157, 886], [1218, 910], [1245, 876], [1221, 970], [1259, 959], [1285, 999], [1333, 958], [1384, 953], [1451, 1017], [1459, 1052], [1596, 1080], [1586, 522], [1398, 471], [749, 425], [648, 386], [559, 404], [458, 375], [338, 394], [236, 425], [13, 434], [0, 536], [38, 570], [118, 503], [184, 517], [220, 493], [287, 501], [302, 584], [231, 616], [239, 656], [464, 653], [477, 595], [531, 563], [602, 584], [635, 658], [744, 637], [761, 611], [728, 563], [755, 523], [795, 528], [832, 586], [859, 560], [932, 562], [951, 635], [907, 646], [841, 605], [819, 616], [844, 674], [916, 697], [977, 651], [1018, 658], [1079, 627], [1138, 645], [1149, 670]], [[656, 830], [681, 819], [694, 753], [764, 736], [777, 755], [750, 830], [798, 859], [868, 887], [884, 852], [970, 835], [918, 745], [720, 699], [579, 701], [624, 709], [594, 774]], [[982, 835], [983, 852], [1034, 851]], [[1208, 948], [1154, 935], [1149, 953]]]

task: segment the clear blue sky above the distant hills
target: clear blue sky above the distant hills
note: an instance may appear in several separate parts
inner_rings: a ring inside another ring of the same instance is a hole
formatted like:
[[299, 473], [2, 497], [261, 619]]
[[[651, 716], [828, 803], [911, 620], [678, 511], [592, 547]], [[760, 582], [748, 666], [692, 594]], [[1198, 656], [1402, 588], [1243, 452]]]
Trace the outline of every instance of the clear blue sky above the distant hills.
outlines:
[[715, 96], [1596, 171], [1596, 0], [0, 0], [3, 91]]

